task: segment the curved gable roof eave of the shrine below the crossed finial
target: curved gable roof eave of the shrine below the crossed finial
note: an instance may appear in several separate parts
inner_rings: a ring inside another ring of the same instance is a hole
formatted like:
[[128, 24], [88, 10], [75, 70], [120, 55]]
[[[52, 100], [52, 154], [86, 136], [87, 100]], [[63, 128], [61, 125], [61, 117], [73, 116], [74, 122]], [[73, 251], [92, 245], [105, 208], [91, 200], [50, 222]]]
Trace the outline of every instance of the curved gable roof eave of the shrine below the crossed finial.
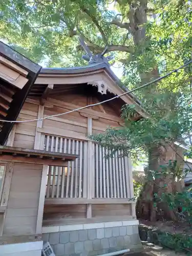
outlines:
[[[83, 84], [89, 84], [95, 80], [97, 81], [97, 79], [103, 79], [106, 83], [113, 84], [115, 90], [109, 91], [111, 97], [129, 92], [106, 63], [98, 63], [79, 68], [42, 69], [29, 93], [29, 97], [42, 97], [48, 84], [54, 84], [54, 88], [50, 93], [51, 96], [56, 95], [56, 93], [62, 93], [62, 90], [63, 93], [66, 90], [75, 91]], [[59, 87], [60, 89], [58, 89]], [[138, 113], [137, 119], [148, 117], [148, 114], [141, 107], [141, 102], [132, 93], [122, 96], [121, 99], [125, 104], [135, 104]]]

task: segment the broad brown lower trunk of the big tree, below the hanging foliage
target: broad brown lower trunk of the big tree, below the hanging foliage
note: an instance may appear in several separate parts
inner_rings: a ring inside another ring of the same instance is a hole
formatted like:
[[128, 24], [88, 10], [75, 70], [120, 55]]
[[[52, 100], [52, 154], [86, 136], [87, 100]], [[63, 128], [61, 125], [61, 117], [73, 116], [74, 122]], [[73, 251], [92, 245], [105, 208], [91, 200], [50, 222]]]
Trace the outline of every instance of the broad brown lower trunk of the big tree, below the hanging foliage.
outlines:
[[136, 204], [137, 218], [145, 220], [174, 220], [173, 210], [168, 208], [166, 202], [161, 202], [162, 193], [175, 193], [175, 180], [173, 175], [160, 175], [155, 180], [151, 179], [151, 172], [161, 172], [162, 165], [167, 165], [171, 160], [176, 160], [174, 144], [151, 147], [149, 152], [149, 165], [146, 170], [146, 182]]

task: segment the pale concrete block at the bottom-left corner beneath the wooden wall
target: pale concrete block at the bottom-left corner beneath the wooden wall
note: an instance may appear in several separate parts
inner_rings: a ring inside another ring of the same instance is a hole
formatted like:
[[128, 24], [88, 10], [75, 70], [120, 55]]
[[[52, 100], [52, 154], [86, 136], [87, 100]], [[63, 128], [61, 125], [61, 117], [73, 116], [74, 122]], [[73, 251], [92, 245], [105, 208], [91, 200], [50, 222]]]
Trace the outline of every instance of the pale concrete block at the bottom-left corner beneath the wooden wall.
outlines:
[[42, 241], [0, 245], [0, 256], [41, 256]]

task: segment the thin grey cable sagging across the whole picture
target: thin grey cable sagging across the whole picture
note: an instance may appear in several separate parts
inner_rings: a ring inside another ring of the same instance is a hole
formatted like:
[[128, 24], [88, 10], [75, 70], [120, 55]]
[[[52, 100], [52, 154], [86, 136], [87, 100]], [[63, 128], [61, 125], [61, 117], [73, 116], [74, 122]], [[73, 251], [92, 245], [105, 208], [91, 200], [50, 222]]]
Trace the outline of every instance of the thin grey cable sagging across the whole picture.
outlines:
[[157, 79], [155, 79], [155, 80], [153, 80], [153, 81], [151, 81], [151, 82], [145, 83], [145, 84], [143, 84], [143, 85], [140, 86], [140, 87], [137, 87], [137, 88], [135, 88], [135, 89], [130, 90], [129, 92], [122, 93], [122, 94], [117, 95], [117, 96], [115, 96], [115, 97], [113, 97], [113, 98], [106, 99], [106, 100], [103, 100], [103, 101], [98, 102], [98, 103], [94, 103], [94, 104], [82, 106], [81, 108], [78, 108], [78, 109], [75, 109], [75, 110], [70, 110], [70, 111], [68, 111], [68, 112], [64, 112], [64, 113], [60, 113], [60, 114], [56, 114], [56, 115], [52, 115], [52, 116], [47, 116], [47, 117], [43, 117], [43, 118], [39, 118], [39, 119], [32, 119], [32, 120], [25, 120], [25, 121], [10, 121], [10, 120], [0, 120], [0, 121], [1, 121], [1, 122], [8, 122], [8, 123], [27, 123], [27, 122], [34, 122], [34, 121], [40, 121], [40, 120], [44, 120], [44, 119], [49, 119], [49, 118], [51, 118], [51, 117], [62, 116], [62, 115], [70, 114], [70, 113], [75, 112], [75, 111], [87, 109], [87, 108], [89, 108], [90, 106], [100, 105], [100, 104], [102, 104], [102, 103], [109, 102], [109, 101], [114, 100], [114, 99], [116, 99], [116, 98], [120, 98], [120, 97], [122, 97], [122, 96], [124, 96], [124, 95], [126, 95], [126, 94], [130, 94], [130, 93], [132, 93], [132, 92], [135, 92], [135, 91], [138, 91], [138, 90], [140, 90], [140, 89], [142, 89], [142, 88], [145, 88], [145, 87], [147, 87], [147, 86], [150, 86], [150, 84], [153, 84], [153, 83], [155, 83], [155, 82], [158, 82], [158, 81], [164, 79], [164, 78], [167, 77], [167, 76], [170, 76], [171, 74], [177, 72], [178, 70], [183, 69], [184, 67], [188, 66], [190, 63], [192, 63], [192, 59], [191, 59], [190, 61], [188, 61], [187, 63], [185, 63], [184, 65], [180, 66], [179, 68], [177, 68], [177, 69], [175, 69], [175, 70], [173, 70], [173, 71], [167, 73], [167, 74], [164, 75], [164, 76], [161, 76], [161, 77], [159, 77], [159, 78], [157, 78]]

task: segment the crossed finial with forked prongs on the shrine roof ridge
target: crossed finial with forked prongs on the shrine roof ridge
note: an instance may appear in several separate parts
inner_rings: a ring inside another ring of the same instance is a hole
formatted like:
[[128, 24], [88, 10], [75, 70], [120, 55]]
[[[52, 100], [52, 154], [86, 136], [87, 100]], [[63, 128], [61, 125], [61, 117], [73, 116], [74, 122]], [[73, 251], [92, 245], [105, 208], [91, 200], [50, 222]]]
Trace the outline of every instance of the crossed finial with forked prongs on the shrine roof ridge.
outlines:
[[104, 50], [101, 53], [93, 54], [81, 36], [79, 36], [79, 42], [80, 42], [83, 50], [87, 53], [86, 55], [83, 55], [82, 58], [84, 60], [87, 60], [89, 62], [89, 64], [104, 62], [104, 63], [107, 63], [108, 65], [110, 65], [109, 61], [113, 59], [113, 56], [109, 55], [107, 57], [104, 57], [104, 54], [108, 50], [107, 46], [105, 46]]

